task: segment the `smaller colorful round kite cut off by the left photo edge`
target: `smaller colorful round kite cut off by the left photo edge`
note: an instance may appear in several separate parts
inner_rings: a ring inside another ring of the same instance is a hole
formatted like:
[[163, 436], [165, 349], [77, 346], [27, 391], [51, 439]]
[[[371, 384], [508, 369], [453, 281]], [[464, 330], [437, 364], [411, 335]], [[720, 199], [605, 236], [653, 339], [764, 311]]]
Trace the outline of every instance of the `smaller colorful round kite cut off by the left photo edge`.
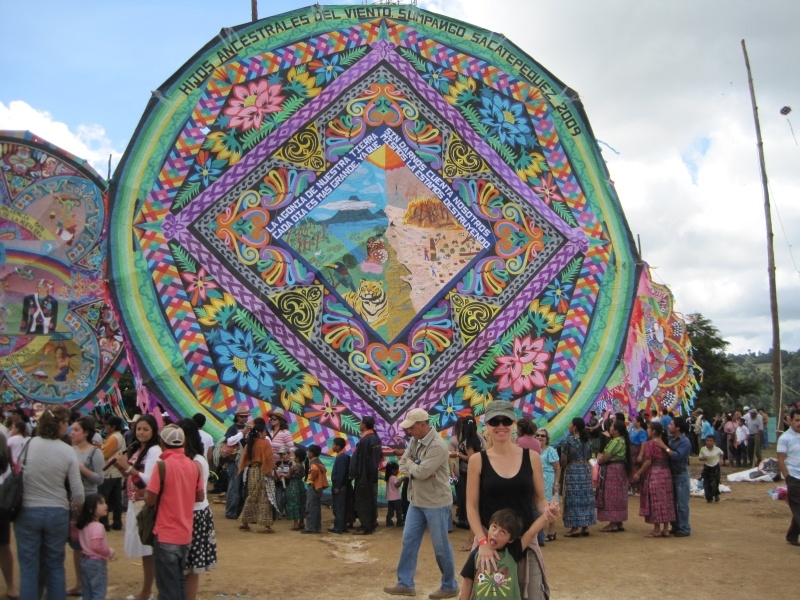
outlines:
[[27, 132], [0, 132], [0, 397], [35, 411], [104, 397], [125, 368], [106, 285], [106, 184]]

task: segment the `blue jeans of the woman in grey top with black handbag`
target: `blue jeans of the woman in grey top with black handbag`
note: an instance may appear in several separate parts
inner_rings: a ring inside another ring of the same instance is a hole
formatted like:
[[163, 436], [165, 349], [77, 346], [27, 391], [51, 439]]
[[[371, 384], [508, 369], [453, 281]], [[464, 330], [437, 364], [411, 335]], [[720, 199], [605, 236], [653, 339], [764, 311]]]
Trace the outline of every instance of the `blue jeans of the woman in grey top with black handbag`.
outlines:
[[23, 508], [14, 522], [14, 537], [17, 538], [20, 598], [39, 598], [41, 569], [47, 599], [64, 600], [67, 594], [64, 550], [69, 537], [69, 511], [52, 507]]

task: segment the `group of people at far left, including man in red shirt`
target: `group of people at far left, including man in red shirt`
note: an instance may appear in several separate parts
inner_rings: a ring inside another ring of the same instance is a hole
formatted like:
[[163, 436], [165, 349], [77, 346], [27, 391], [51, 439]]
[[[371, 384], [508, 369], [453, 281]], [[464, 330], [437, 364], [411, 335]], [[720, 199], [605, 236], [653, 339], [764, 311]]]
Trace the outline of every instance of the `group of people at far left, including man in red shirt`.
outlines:
[[[49, 600], [79, 596], [104, 600], [108, 587], [108, 531], [123, 527], [124, 553], [141, 560], [142, 586], [127, 600], [197, 597], [199, 576], [217, 563], [214, 520], [206, 498], [209, 452], [200, 435], [202, 415], [159, 429], [137, 415], [127, 439], [122, 419], [105, 419], [105, 436], [93, 416], [48, 406], [35, 427], [14, 411], [0, 428], [0, 482], [22, 472], [22, 506], [14, 515], [20, 582], [14, 579], [11, 515], [0, 513], [0, 570], [6, 596]], [[22, 424], [22, 425], [20, 425]], [[123, 488], [126, 493], [123, 494]], [[137, 515], [157, 505], [153, 542], [145, 544]], [[76, 584], [67, 588], [66, 547], [72, 549]]]

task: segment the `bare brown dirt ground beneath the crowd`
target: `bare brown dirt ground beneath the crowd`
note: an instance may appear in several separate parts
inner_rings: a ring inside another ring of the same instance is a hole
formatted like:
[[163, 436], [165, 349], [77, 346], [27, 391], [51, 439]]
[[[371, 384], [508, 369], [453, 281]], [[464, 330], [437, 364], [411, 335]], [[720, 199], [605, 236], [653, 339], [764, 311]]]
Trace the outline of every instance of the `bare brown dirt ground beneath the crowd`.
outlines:
[[[772, 500], [772, 483], [723, 483], [732, 493], [719, 504], [691, 499], [692, 535], [688, 538], [645, 539], [648, 530], [638, 516], [639, 500], [631, 498], [626, 531], [609, 534], [590, 528], [586, 538], [558, 539], [543, 549], [555, 600], [646, 596], [725, 598], [726, 600], [797, 598], [800, 548], [786, 543], [789, 508]], [[212, 497], [213, 498], [213, 497]], [[300, 535], [291, 522], [278, 521], [276, 534], [240, 532], [226, 520], [223, 505], [213, 502], [219, 564], [202, 576], [200, 598], [384, 599], [393, 585], [402, 530], [379, 527], [372, 536]], [[385, 509], [381, 510], [381, 519]], [[323, 509], [323, 531], [333, 515]], [[458, 547], [469, 532], [454, 529], [450, 540], [460, 570], [467, 557]], [[109, 534], [109, 545], [122, 551], [122, 532]], [[794, 575], [792, 575], [794, 573]], [[108, 600], [136, 593], [141, 565], [124, 556], [109, 564]], [[68, 583], [74, 576], [68, 569]], [[669, 587], [666, 584], [669, 583]], [[416, 577], [417, 597], [427, 598], [439, 584], [430, 541], [423, 540]]]

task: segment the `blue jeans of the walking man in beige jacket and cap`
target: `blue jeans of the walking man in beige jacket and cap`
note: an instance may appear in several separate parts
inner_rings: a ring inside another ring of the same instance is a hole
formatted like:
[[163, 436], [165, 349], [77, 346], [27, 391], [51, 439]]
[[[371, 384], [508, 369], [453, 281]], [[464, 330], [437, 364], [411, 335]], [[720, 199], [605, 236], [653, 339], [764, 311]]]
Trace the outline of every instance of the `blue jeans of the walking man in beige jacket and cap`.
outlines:
[[417, 557], [422, 545], [425, 529], [430, 531], [433, 554], [442, 573], [441, 589], [458, 588], [455, 574], [453, 548], [447, 537], [447, 529], [452, 520], [451, 505], [441, 508], [419, 508], [413, 504], [406, 513], [406, 526], [403, 528], [403, 550], [397, 565], [397, 583], [407, 588], [414, 587], [414, 573], [417, 571]]

